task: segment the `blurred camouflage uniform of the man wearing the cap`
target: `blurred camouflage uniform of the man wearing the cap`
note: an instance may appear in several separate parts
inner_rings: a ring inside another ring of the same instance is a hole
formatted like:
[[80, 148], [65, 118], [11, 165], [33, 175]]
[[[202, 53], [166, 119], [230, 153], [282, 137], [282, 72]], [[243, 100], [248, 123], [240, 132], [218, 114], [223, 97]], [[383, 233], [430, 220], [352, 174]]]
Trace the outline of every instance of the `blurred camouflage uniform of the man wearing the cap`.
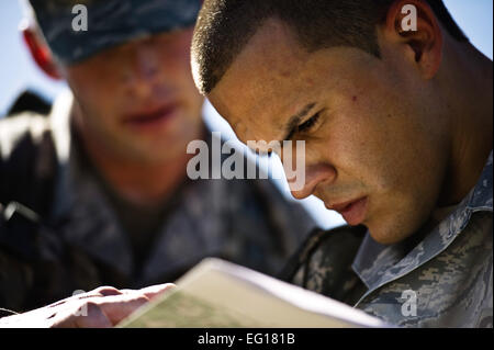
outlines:
[[269, 180], [190, 180], [136, 269], [125, 230], [74, 147], [71, 99], [57, 99], [48, 117], [0, 121], [0, 203], [41, 216], [35, 224], [5, 210], [0, 218], [0, 307], [30, 309], [99, 285], [171, 282], [206, 256], [273, 274], [313, 228]]

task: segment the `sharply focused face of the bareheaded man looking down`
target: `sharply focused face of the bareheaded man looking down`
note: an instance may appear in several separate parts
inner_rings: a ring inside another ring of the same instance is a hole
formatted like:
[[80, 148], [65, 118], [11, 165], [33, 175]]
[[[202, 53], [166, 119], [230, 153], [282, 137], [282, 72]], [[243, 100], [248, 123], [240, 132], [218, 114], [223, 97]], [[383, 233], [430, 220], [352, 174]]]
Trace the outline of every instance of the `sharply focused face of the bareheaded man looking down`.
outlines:
[[446, 122], [430, 88], [382, 42], [382, 59], [352, 47], [304, 50], [268, 22], [209, 95], [243, 140], [305, 140], [305, 187], [350, 225], [392, 244], [436, 205], [446, 167]]

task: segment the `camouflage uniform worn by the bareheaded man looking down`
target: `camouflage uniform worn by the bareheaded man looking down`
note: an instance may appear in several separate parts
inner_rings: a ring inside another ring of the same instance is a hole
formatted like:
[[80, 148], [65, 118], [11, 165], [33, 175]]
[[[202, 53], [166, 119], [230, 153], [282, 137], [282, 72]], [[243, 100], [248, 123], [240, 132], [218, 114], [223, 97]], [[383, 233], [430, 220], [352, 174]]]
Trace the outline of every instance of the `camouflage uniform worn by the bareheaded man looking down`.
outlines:
[[403, 242], [379, 245], [363, 226], [316, 230], [283, 279], [397, 326], [492, 327], [492, 167], [491, 153], [462, 202]]

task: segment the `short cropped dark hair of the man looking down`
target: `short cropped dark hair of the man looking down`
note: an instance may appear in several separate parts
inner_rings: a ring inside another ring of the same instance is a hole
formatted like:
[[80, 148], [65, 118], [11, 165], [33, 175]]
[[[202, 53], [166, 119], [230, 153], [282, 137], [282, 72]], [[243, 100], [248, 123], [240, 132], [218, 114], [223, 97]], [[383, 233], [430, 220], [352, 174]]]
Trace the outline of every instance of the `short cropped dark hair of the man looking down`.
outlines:
[[[377, 57], [377, 25], [385, 21], [393, 0], [205, 0], [192, 39], [198, 88], [210, 93], [266, 20], [289, 25], [308, 52], [353, 46]], [[442, 0], [427, 0], [449, 34], [468, 38]]]

